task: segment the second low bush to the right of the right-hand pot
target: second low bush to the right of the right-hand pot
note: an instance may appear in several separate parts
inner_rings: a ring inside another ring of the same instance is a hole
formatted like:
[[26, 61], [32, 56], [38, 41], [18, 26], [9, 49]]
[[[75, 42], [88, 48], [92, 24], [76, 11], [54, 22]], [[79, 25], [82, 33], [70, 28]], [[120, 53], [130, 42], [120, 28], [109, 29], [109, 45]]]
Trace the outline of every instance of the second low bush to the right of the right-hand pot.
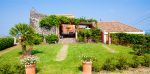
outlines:
[[116, 63], [114, 58], [106, 59], [105, 63], [102, 66], [103, 70], [113, 71], [116, 70]]

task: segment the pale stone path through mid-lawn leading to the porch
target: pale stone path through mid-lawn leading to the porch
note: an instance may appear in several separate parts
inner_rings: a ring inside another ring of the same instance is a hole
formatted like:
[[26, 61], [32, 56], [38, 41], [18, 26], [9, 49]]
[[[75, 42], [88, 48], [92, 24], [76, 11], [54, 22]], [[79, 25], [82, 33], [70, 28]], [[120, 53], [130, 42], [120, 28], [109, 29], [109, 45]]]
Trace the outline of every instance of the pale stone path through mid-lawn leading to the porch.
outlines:
[[56, 61], [63, 61], [68, 53], [68, 45], [64, 44], [56, 56]]

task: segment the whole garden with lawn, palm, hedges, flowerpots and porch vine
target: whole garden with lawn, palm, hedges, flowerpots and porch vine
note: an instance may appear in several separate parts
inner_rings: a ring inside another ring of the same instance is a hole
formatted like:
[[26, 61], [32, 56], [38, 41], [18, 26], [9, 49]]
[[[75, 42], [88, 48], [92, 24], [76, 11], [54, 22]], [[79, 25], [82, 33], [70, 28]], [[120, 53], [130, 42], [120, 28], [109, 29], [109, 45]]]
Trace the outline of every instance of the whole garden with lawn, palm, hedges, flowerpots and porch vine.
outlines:
[[[40, 26], [52, 27], [82, 21], [95, 20], [51, 15], [43, 18]], [[111, 34], [113, 44], [106, 45], [100, 43], [100, 33], [97, 28], [78, 31], [78, 43], [67, 44], [66, 58], [57, 61], [56, 56], [64, 46], [57, 44], [57, 35], [37, 34], [30, 25], [18, 23], [10, 29], [10, 35], [17, 38], [19, 45], [14, 46], [11, 37], [0, 38], [0, 74], [87, 74], [129, 68], [149, 69], [149, 35], [114, 33]], [[88, 67], [87, 70], [84, 67]]]

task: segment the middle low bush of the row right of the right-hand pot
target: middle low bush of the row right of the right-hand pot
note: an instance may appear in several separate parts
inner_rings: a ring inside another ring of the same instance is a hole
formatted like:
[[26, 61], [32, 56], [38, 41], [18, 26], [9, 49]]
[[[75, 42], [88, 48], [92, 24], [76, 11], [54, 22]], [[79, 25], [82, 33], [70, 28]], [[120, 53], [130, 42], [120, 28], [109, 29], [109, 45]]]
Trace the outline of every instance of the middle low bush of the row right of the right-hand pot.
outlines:
[[128, 68], [128, 62], [127, 62], [127, 58], [125, 56], [119, 56], [117, 59], [117, 64], [116, 67], [119, 70], [123, 70], [123, 69], [127, 69]]

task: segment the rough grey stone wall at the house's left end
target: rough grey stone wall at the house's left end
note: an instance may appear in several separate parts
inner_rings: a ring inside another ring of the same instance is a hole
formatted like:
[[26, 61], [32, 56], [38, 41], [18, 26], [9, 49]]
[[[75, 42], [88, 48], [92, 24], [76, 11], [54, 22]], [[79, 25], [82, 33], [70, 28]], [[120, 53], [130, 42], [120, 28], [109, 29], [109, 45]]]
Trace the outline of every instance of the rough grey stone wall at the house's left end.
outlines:
[[30, 25], [35, 29], [35, 31], [39, 34], [56, 34], [56, 27], [52, 27], [50, 29], [41, 28], [39, 25], [40, 20], [47, 15], [38, 13], [35, 9], [30, 11]]

